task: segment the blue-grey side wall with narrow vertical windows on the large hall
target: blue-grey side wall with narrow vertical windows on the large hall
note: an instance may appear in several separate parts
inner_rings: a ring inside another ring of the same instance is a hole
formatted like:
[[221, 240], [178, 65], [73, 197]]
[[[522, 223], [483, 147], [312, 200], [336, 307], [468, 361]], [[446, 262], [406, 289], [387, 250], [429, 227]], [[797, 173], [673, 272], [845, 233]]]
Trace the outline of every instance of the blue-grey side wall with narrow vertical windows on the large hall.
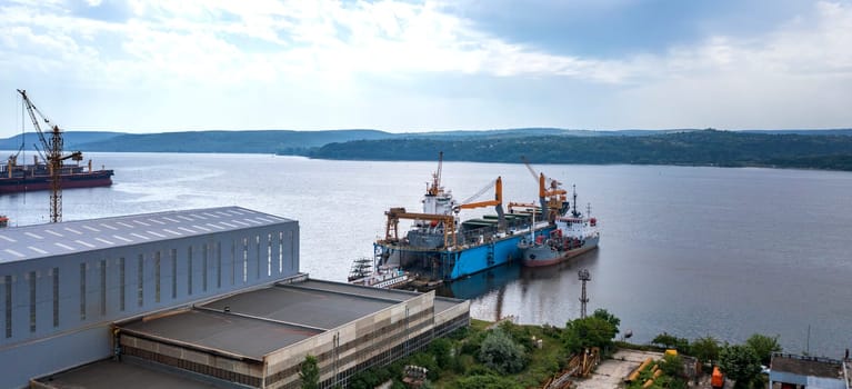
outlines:
[[295, 221], [0, 263], [0, 388], [111, 356], [113, 321], [298, 271]]

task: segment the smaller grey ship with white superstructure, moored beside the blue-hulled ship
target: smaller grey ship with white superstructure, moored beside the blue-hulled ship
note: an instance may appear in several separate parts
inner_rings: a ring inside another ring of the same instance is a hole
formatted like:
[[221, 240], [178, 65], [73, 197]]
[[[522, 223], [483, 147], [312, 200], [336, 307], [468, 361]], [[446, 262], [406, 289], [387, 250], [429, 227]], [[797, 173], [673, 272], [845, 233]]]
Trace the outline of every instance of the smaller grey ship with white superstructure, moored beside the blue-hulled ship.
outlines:
[[591, 209], [585, 216], [577, 210], [574, 188], [573, 208], [555, 218], [555, 229], [539, 235], [530, 231], [528, 238], [521, 239], [518, 248], [522, 251], [523, 266], [555, 265], [598, 248], [601, 235], [598, 220], [590, 213]]

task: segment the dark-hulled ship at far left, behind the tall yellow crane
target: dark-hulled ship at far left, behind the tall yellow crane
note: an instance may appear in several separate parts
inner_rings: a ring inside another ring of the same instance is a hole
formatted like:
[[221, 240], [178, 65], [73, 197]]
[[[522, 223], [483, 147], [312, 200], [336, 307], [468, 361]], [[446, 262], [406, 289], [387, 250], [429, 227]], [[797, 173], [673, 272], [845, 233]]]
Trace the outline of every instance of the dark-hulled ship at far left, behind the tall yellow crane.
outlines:
[[[59, 171], [62, 189], [109, 187], [112, 184], [111, 169], [93, 170], [88, 166], [63, 164]], [[51, 188], [50, 166], [33, 157], [31, 164], [18, 164], [17, 156], [10, 156], [7, 163], [0, 166], [0, 194], [17, 193]]]

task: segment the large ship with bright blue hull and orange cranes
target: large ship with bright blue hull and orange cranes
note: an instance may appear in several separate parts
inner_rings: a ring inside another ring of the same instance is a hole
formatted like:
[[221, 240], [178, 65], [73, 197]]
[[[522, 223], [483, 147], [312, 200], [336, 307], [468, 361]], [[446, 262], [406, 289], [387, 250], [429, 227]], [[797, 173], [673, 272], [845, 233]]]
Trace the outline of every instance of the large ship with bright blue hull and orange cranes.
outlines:
[[[504, 212], [499, 177], [483, 188], [493, 184], [494, 200], [457, 201], [451, 191], [441, 186], [442, 157], [439, 156], [438, 171], [423, 196], [422, 212], [409, 212], [405, 208], [391, 208], [385, 212], [385, 236], [373, 243], [377, 268], [399, 268], [432, 285], [458, 280], [520, 260], [519, 242], [530, 229], [548, 233], [554, 228], [549, 223], [533, 223], [535, 212], [547, 215], [547, 211], [532, 205], [510, 203], [509, 212]], [[460, 220], [460, 210], [481, 207], [494, 207], [497, 215]], [[400, 233], [400, 220], [411, 222], [404, 233]]]

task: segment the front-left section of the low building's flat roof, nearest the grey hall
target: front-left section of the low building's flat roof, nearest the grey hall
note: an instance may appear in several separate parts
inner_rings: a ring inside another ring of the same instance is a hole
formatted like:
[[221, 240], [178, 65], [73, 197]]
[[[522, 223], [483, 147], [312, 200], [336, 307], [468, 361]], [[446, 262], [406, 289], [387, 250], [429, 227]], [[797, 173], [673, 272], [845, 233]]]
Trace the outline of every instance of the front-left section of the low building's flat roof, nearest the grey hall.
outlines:
[[270, 352], [322, 332], [203, 309], [134, 321], [121, 328], [130, 335], [156, 337], [167, 343], [213, 350], [258, 361], [263, 360], [263, 356]]

